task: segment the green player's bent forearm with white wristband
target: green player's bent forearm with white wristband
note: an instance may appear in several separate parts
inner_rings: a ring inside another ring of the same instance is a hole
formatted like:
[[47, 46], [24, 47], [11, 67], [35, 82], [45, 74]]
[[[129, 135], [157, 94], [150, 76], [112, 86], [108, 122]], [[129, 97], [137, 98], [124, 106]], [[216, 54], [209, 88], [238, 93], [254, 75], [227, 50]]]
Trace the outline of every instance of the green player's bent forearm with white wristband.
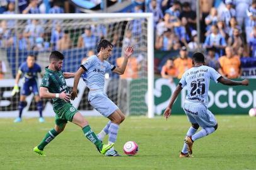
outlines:
[[65, 91], [62, 91], [62, 93], [50, 93], [47, 88], [40, 87], [40, 98], [60, 98], [64, 99], [64, 101], [69, 101], [71, 98], [71, 94], [65, 93]]

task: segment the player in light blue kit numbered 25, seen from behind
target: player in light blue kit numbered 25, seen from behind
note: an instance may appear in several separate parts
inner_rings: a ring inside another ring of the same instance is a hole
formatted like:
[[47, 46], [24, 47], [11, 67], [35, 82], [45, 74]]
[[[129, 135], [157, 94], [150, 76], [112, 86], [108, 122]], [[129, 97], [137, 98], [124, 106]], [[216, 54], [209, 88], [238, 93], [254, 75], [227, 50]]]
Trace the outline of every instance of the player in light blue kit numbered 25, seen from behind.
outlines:
[[[222, 77], [217, 71], [212, 69], [212, 67], [204, 65], [204, 55], [200, 52], [196, 52], [193, 55], [192, 63], [194, 67], [183, 74], [182, 79], [180, 79], [177, 88], [172, 94], [171, 101], [164, 112], [164, 116], [167, 120], [172, 113], [172, 106], [175, 99], [180, 91], [186, 86], [188, 94], [183, 105], [183, 110], [192, 125], [184, 139], [185, 143], [182, 152], [180, 153], [180, 157], [191, 157], [194, 141], [213, 133], [218, 127], [214, 115], [211, 111], [207, 110], [210, 79], [228, 86], [248, 86], [249, 84], [247, 79], [244, 79], [243, 81], [232, 81]], [[202, 130], [197, 132], [199, 127], [201, 127]]]

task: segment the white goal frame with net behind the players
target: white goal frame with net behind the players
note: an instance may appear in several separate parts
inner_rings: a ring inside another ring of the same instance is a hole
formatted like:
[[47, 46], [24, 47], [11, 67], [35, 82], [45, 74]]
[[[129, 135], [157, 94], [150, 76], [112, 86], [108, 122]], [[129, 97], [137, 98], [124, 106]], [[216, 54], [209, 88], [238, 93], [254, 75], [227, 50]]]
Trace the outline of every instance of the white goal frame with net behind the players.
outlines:
[[[65, 57], [62, 71], [76, 72], [82, 62], [96, 54], [96, 45], [103, 38], [114, 45], [108, 62], [116, 66], [122, 65], [125, 47], [134, 47], [124, 75], [105, 74], [104, 91], [108, 98], [126, 115], [154, 116], [152, 14], [5, 14], [0, 16], [0, 21], [0, 60], [6, 66], [4, 79], [0, 80], [0, 116], [18, 115], [20, 94], [11, 96], [11, 90], [18, 68], [28, 55], [36, 56], [44, 74], [50, 52], [59, 50]], [[73, 80], [66, 79], [70, 90]], [[88, 103], [88, 92], [81, 78], [78, 98], [71, 102], [83, 115], [97, 115]], [[52, 101], [42, 100], [44, 116], [54, 116]], [[23, 115], [37, 116], [33, 94], [26, 102]]]

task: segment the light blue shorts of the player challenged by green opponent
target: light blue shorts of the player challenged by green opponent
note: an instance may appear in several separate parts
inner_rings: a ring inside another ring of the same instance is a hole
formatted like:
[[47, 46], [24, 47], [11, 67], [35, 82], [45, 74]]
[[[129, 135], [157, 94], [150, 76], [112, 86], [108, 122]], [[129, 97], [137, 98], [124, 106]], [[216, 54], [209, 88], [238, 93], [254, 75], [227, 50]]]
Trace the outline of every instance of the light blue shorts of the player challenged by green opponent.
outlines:
[[110, 116], [114, 111], [119, 109], [102, 90], [90, 91], [88, 101], [96, 111], [105, 117]]

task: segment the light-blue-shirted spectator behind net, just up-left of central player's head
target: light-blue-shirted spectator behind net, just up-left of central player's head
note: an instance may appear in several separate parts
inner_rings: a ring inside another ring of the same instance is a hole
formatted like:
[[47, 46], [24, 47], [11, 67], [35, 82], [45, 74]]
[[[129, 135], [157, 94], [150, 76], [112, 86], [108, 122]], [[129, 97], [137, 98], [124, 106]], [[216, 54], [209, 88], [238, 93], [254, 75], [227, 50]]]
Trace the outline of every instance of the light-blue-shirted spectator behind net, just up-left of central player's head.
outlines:
[[84, 33], [78, 38], [78, 48], [88, 48], [89, 50], [94, 49], [98, 42], [98, 38], [91, 33], [91, 26], [86, 25]]

